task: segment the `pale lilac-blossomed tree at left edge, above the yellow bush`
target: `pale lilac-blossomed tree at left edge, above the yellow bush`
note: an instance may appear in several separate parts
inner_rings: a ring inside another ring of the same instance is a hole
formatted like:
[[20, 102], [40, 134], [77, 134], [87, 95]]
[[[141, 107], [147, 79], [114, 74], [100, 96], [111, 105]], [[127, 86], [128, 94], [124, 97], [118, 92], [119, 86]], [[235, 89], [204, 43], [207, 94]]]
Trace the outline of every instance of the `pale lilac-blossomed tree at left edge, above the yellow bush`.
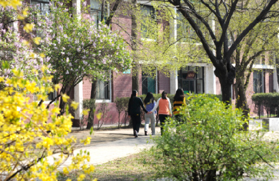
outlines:
[[[17, 24], [12, 25], [12, 23], [21, 22], [20, 19], [27, 16], [26, 10], [23, 6], [19, 7], [17, 11], [12, 7], [0, 6], [0, 65], [3, 65], [4, 62], [10, 65], [9, 69], [0, 69], [0, 75], [11, 77], [13, 75], [11, 70], [16, 68], [25, 72], [25, 78], [34, 80], [36, 76], [32, 70], [40, 70], [43, 58], [40, 56], [37, 58], [34, 53], [31, 53], [32, 50], [26, 41], [27, 39], [23, 39], [17, 31]], [[29, 29], [24, 27], [24, 31], [29, 32]], [[36, 37], [32, 41], [39, 43]], [[2, 84], [2, 88], [3, 86]]]

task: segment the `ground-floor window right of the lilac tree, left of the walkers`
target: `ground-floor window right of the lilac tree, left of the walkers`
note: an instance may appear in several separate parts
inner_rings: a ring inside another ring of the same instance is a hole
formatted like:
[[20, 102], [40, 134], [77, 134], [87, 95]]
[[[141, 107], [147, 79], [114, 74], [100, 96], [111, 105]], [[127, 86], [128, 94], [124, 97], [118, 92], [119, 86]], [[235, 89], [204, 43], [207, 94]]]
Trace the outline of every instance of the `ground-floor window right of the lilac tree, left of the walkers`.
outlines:
[[97, 81], [96, 100], [110, 100], [111, 99], [111, 82], [110, 81]]

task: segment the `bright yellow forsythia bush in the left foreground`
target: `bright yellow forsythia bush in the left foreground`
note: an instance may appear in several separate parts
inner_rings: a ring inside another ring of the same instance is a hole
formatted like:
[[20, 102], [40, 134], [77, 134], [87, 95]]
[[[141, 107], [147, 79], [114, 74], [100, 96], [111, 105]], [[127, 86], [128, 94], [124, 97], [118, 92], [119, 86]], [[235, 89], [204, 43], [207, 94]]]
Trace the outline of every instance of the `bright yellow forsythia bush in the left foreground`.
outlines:
[[[45, 72], [45, 67], [42, 68]], [[74, 137], [65, 138], [71, 132], [72, 115], [59, 114], [59, 108], [46, 109], [42, 104], [30, 102], [27, 94], [37, 94], [40, 99], [46, 99], [47, 93], [53, 92], [58, 86], [51, 86], [52, 77], [42, 75], [38, 82], [24, 79], [23, 73], [13, 70], [14, 77], [0, 77], [0, 83], [6, 86], [0, 90], [0, 180], [57, 180], [56, 169], [67, 159], [72, 158], [72, 164], [63, 168], [68, 174], [73, 170], [83, 170], [90, 173], [92, 165], [85, 165], [90, 157], [87, 152], [73, 155], [73, 146], [77, 140]], [[39, 86], [38, 86], [39, 85]], [[42, 86], [40, 86], [42, 85]], [[67, 99], [66, 96], [63, 99]], [[77, 107], [77, 103], [72, 103]], [[52, 122], [47, 123], [51, 117]], [[50, 133], [47, 131], [51, 130]], [[90, 138], [81, 140], [84, 144]], [[54, 161], [48, 156], [59, 154]], [[83, 180], [80, 175], [77, 180]]]

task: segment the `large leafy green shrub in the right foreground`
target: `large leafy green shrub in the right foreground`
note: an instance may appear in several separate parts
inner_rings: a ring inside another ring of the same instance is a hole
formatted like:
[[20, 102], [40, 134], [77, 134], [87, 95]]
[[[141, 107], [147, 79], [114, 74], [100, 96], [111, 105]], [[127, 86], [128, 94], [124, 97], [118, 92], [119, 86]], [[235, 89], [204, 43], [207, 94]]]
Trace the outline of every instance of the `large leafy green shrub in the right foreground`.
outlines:
[[162, 137], [154, 137], [156, 146], [151, 150], [157, 177], [238, 180], [243, 173], [271, 176], [270, 167], [257, 164], [276, 162], [278, 148], [263, 141], [259, 132], [238, 131], [243, 124], [240, 110], [207, 95], [190, 95], [188, 101], [181, 111], [184, 124], [169, 118]]

